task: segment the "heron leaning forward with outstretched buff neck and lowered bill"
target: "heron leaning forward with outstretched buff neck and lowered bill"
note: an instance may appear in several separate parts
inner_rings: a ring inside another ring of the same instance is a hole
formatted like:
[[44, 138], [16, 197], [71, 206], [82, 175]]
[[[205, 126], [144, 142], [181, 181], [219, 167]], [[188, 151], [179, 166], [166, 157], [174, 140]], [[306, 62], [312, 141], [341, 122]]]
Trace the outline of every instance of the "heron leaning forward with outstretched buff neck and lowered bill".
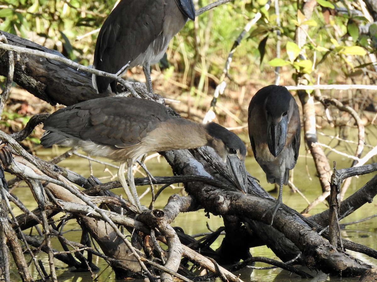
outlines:
[[[210, 146], [229, 170], [237, 188], [247, 193], [246, 147], [241, 139], [216, 123], [199, 124], [173, 117], [152, 100], [105, 97], [59, 109], [44, 121], [41, 144], [81, 147], [87, 153], [120, 162], [118, 178], [129, 201], [141, 211], [132, 165], [150, 152]], [[127, 179], [124, 177], [127, 164]]]

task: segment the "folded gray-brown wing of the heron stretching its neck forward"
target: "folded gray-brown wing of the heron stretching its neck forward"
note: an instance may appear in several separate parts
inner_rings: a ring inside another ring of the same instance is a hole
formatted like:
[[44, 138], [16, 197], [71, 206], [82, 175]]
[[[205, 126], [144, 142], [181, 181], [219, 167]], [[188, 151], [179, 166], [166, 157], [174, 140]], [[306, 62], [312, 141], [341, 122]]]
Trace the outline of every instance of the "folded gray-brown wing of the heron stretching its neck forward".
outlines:
[[170, 118], [165, 106], [150, 100], [105, 97], [56, 111], [43, 129], [77, 140], [129, 147]]

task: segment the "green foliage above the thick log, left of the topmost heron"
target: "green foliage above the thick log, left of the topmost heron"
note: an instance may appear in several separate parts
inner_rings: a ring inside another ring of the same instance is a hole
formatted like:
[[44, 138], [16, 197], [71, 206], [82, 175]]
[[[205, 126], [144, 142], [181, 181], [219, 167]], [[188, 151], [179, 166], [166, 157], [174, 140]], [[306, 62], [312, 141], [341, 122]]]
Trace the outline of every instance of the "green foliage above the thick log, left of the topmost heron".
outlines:
[[31, 32], [52, 39], [67, 58], [87, 64], [92, 57], [96, 34], [77, 39], [100, 28], [115, 0], [96, 2], [81, 0], [3, 0], [0, 9], [0, 29], [30, 38]]

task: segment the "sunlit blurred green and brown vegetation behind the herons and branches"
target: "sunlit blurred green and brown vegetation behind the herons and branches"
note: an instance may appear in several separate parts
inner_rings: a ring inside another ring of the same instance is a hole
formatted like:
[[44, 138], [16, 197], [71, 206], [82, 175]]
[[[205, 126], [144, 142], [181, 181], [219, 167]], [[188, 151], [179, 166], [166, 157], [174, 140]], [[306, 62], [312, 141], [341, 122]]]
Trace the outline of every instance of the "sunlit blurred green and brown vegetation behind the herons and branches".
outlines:
[[[5, 0], [0, 5], [0, 29], [56, 49], [80, 64], [90, 65], [97, 29], [115, 2]], [[198, 1], [195, 5], [199, 8], [208, 2]], [[257, 89], [275, 82], [275, 67], [280, 67], [278, 83], [282, 85], [295, 85], [297, 72], [305, 74], [309, 84], [374, 85], [376, 76], [372, 62], [377, 25], [365, 28], [373, 19], [365, 12], [365, 7], [360, 6], [364, 3], [317, 2], [310, 20], [297, 12], [297, 2], [286, 0], [279, 1], [279, 17], [273, 7], [266, 9], [265, 0], [230, 2], [199, 15], [195, 23], [189, 21], [170, 43], [169, 65], [154, 67], [164, 68], [162, 72], [153, 72], [155, 91], [164, 97], [185, 101], [176, 106], [178, 110], [201, 120], [210, 107], [211, 94], [234, 40], [258, 12], [262, 17], [237, 47], [225, 79], [228, 88], [216, 108], [218, 118], [227, 126], [245, 125], [248, 102]], [[299, 47], [294, 36], [297, 27], [303, 24], [310, 28], [307, 40]], [[281, 58], [276, 58], [280, 40]], [[305, 58], [299, 56], [303, 52]], [[140, 74], [141, 68], [129, 72], [133, 78], [143, 80]], [[352, 97], [354, 100], [350, 103], [356, 102], [362, 116], [365, 109], [375, 111], [373, 93], [328, 91], [326, 94], [341, 99]], [[21, 112], [22, 117], [24, 114]], [[8, 118], [17, 119], [17, 115]], [[365, 121], [371, 118], [367, 116]]]

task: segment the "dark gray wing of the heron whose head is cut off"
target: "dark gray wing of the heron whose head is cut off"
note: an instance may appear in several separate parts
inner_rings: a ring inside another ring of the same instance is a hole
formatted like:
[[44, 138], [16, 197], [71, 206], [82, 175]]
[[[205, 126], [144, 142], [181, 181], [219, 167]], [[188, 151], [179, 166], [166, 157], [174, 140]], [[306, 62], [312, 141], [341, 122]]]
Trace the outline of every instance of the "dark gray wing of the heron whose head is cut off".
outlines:
[[93, 67], [117, 73], [132, 62], [161, 33], [163, 14], [164, 0], [121, 0], [98, 34]]

